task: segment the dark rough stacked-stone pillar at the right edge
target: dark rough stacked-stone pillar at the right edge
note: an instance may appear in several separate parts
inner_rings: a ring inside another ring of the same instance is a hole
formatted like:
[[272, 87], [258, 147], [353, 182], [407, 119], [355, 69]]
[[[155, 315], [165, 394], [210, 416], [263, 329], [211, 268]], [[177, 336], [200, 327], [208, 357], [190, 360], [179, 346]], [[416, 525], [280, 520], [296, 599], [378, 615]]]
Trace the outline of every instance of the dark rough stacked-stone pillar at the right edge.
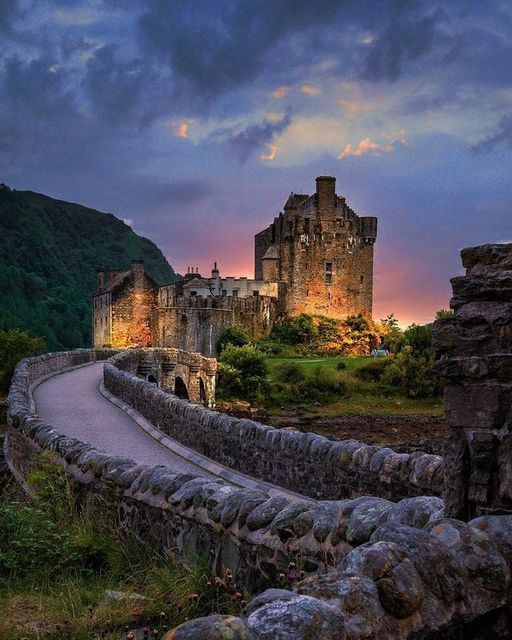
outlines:
[[434, 331], [452, 434], [449, 515], [512, 513], [512, 244], [462, 251], [452, 318]]

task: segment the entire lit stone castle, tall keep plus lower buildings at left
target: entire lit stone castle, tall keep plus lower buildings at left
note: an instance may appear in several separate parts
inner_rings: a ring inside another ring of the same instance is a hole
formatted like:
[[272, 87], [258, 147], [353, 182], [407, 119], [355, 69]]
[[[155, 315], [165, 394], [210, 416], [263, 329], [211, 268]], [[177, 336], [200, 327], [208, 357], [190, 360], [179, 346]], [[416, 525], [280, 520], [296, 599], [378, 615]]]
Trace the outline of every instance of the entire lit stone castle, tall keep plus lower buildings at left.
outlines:
[[371, 315], [377, 218], [358, 216], [336, 179], [320, 176], [313, 195], [292, 193], [272, 224], [255, 236], [254, 279], [210, 277], [189, 267], [158, 286], [136, 261], [129, 271], [98, 270], [93, 294], [95, 347], [174, 347], [215, 355], [229, 326], [268, 335], [300, 313], [342, 319]]

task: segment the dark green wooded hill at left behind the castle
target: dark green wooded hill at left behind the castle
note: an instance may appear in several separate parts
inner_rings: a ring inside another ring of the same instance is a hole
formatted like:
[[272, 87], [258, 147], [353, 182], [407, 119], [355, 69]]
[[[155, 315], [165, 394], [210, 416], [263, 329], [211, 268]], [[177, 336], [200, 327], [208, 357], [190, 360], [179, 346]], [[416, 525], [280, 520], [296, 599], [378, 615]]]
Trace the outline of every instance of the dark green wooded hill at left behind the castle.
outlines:
[[29, 330], [51, 350], [90, 346], [96, 269], [141, 259], [159, 284], [175, 280], [160, 249], [112, 214], [0, 186], [0, 330]]

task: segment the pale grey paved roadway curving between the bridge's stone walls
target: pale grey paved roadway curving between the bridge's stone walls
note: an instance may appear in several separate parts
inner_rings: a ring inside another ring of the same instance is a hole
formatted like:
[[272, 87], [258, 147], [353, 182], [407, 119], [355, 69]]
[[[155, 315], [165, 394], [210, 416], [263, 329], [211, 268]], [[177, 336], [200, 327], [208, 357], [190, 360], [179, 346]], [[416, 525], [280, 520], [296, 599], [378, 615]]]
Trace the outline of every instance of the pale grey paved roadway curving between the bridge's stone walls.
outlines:
[[48, 378], [34, 390], [37, 413], [60, 433], [89, 442], [139, 464], [164, 464], [174, 471], [212, 474], [173, 453], [99, 393], [103, 363]]

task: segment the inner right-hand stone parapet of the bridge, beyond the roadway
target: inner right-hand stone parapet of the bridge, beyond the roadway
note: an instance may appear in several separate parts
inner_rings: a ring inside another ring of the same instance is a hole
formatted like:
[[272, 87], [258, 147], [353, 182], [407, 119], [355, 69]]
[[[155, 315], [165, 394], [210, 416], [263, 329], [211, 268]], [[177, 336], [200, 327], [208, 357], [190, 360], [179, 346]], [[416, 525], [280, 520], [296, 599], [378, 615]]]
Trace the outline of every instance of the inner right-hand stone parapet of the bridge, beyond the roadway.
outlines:
[[121, 352], [108, 361], [105, 387], [170, 437], [224, 466], [323, 500], [399, 500], [442, 492], [440, 456], [274, 429], [191, 405], [130, 373], [133, 359], [144, 353]]

